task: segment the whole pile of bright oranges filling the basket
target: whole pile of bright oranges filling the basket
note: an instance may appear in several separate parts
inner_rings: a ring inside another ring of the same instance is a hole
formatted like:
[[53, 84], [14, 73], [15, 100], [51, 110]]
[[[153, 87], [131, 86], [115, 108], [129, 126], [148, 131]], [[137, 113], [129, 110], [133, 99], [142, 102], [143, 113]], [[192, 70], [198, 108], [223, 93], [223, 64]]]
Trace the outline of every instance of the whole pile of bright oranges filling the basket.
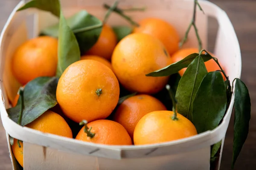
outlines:
[[[146, 18], [139, 25], [117, 42], [112, 28], [105, 24], [96, 44], [67, 67], [58, 81], [56, 98], [61, 113], [47, 111], [26, 126], [72, 138], [73, 129], [65, 121], [70, 119], [84, 125], [77, 140], [111, 145], [155, 144], [196, 135], [192, 122], [178, 113], [173, 120], [174, 113], [151, 96], [166, 86], [169, 77], [145, 74], [198, 53], [198, 49], [179, 49], [177, 31], [162, 19]], [[57, 55], [57, 39], [42, 36], [28, 40], [12, 58], [13, 74], [22, 85], [36, 77], [53, 77]], [[218, 70], [213, 60], [206, 62], [206, 67]], [[179, 72], [181, 76], [185, 69]], [[118, 104], [121, 85], [137, 95]], [[23, 166], [22, 147], [14, 142], [12, 149]]]

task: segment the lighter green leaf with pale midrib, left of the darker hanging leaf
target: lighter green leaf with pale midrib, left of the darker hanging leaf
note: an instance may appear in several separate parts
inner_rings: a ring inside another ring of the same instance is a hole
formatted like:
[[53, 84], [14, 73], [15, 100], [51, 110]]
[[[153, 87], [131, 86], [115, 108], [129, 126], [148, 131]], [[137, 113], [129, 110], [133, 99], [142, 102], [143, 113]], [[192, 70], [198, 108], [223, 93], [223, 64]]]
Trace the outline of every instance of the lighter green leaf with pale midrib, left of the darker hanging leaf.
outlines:
[[192, 122], [192, 104], [195, 94], [207, 74], [204, 60], [198, 56], [186, 69], [181, 77], [175, 98], [177, 99], [177, 111]]

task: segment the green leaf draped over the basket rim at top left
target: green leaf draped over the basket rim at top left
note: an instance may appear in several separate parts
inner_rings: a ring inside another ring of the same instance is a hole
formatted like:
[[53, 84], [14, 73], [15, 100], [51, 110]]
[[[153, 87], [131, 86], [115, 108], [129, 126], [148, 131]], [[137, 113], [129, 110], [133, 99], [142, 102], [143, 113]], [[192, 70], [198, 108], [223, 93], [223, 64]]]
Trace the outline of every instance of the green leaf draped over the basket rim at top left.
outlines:
[[38, 8], [44, 11], [49, 11], [55, 16], [60, 16], [60, 3], [59, 0], [32, 0], [26, 3], [17, 11], [22, 11], [27, 8]]

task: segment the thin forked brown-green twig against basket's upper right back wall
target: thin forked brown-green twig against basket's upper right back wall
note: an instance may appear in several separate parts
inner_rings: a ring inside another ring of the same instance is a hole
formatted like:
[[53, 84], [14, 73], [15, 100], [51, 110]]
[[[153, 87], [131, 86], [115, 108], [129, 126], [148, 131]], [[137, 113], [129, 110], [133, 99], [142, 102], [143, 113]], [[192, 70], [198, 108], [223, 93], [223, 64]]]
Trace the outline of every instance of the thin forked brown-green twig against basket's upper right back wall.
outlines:
[[[196, 6], [198, 6], [200, 8], [201, 11], [203, 11], [203, 9], [201, 8], [200, 4], [198, 3], [198, 0], [194, 0], [194, 10], [193, 10], [193, 17], [192, 17], [192, 20], [191, 20], [191, 23], [189, 24], [189, 28], [187, 29], [186, 33], [185, 33], [185, 37], [183, 38], [183, 40], [180, 42], [180, 48], [182, 47], [182, 45], [187, 41], [187, 38], [188, 38], [188, 34], [189, 34], [189, 31], [191, 29], [191, 27], [193, 26], [194, 29], [195, 29], [195, 34], [196, 34], [196, 37], [198, 39], [198, 48], [199, 48], [199, 51], [201, 51], [202, 49], [202, 41], [201, 41], [201, 38], [199, 36], [199, 33], [198, 33], [198, 28], [195, 24], [195, 20], [196, 20]], [[203, 11], [204, 12], [204, 11]]]

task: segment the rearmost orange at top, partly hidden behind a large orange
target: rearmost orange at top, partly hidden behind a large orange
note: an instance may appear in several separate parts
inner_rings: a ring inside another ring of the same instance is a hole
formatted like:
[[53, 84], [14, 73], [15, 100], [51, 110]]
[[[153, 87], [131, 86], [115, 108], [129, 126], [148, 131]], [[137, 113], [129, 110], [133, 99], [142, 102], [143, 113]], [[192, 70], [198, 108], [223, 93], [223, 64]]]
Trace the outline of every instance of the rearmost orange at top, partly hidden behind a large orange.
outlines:
[[158, 38], [172, 55], [179, 49], [180, 37], [175, 28], [160, 18], [145, 18], [134, 28], [134, 33], [146, 33]]

